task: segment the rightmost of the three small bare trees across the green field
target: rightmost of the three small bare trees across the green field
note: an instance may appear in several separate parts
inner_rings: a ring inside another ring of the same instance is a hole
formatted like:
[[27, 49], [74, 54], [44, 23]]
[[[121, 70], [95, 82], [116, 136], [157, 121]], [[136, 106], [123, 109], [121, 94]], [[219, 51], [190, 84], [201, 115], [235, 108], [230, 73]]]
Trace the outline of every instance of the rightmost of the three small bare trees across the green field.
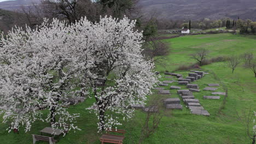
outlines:
[[256, 59], [253, 57], [253, 53], [245, 53], [243, 60], [245, 61], [245, 67], [251, 69], [254, 73], [254, 77], [256, 77]]

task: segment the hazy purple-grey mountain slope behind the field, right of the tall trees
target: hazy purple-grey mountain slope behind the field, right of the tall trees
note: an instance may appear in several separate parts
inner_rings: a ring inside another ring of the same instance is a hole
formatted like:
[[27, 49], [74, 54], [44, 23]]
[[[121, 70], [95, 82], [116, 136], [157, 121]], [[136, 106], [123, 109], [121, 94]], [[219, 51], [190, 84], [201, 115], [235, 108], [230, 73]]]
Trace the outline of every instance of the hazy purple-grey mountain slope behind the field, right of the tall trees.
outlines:
[[142, 11], [159, 18], [200, 20], [223, 17], [256, 20], [255, 0], [140, 0]]

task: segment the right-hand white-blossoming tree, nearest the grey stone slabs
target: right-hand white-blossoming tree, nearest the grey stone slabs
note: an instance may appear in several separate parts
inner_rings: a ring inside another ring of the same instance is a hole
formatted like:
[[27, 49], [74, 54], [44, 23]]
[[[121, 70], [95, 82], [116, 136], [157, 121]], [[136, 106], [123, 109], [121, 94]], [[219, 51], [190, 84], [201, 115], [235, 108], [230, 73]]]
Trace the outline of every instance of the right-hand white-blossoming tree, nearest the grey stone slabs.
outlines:
[[83, 86], [92, 88], [96, 103], [89, 109], [100, 120], [100, 131], [120, 125], [119, 118], [131, 118], [134, 110], [129, 106], [144, 104], [157, 82], [153, 63], [141, 55], [142, 33], [133, 30], [135, 23], [104, 17], [98, 23], [81, 19], [73, 25], [83, 35], [82, 59], [90, 61], [81, 78]]

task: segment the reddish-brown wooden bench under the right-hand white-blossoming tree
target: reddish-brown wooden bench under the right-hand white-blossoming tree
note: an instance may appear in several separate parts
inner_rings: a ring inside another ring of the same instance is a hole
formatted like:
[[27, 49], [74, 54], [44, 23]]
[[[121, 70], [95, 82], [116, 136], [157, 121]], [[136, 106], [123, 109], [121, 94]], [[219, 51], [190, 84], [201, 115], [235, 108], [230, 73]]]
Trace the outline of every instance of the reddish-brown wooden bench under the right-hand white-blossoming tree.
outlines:
[[[123, 144], [123, 140], [125, 138], [124, 134], [126, 133], [125, 130], [107, 129], [106, 131], [107, 131], [107, 134], [104, 134], [100, 137], [101, 144], [104, 144], [104, 142]], [[122, 135], [112, 135], [112, 134], [109, 134], [109, 132], [120, 133]]]

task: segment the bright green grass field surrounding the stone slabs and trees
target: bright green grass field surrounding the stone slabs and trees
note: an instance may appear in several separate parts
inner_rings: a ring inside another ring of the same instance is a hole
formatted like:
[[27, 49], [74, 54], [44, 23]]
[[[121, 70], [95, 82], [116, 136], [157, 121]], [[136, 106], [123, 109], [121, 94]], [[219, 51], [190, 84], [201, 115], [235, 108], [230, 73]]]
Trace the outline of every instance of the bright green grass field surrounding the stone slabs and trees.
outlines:
[[[189, 55], [201, 48], [210, 51], [209, 58], [244, 52], [253, 52], [256, 55], [255, 36], [225, 33], [190, 35], [164, 41], [170, 44], [171, 48], [170, 54], [166, 56], [165, 65], [156, 65], [156, 70], [161, 72], [161, 80], [167, 80], [163, 75], [166, 70], [173, 71], [181, 64], [194, 63], [195, 61]], [[194, 92], [194, 96], [200, 100], [201, 105], [210, 112], [211, 116], [192, 115], [183, 102], [183, 110], [166, 111], [162, 109], [164, 117], [158, 130], [143, 143], [251, 143], [246, 134], [243, 113], [248, 112], [250, 107], [252, 110], [256, 110], [256, 78], [254, 74], [251, 70], [243, 68], [242, 64], [232, 74], [226, 62], [212, 63], [201, 68], [210, 74], [193, 83], [198, 84], [201, 90], [207, 86], [207, 83], [220, 83], [220, 81], [224, 83], [228, 87], [228, 98], [224, 109], [219, 112], [223, 103], [223, 96], [220, 100], [205, 100], [202, 99], [203, 95], [210, 95], [211, 92]], [[177, 71], [177, 73], [185, 77], [189, 71]], [[217, 75], [220, 81], [216, 79], [213, 73]], [[177, 79], [174, 78], [174, 80]], [[171, 85], [178, 86], [174, 82], [165, 89], [169, 89]], [[185, 88], [185, 86], [182, 87]], [[219, 87], [217, 91], [224, 92], [224, 89]], [[170, 90], [170, 92], [171, 95], [149, 95], [148, 104], [153, 100], [179, 97], [176, 90]], [[84, 103], [69, 108], [70, 112], [80, 113], [77, 124], [82, 130], [75, 133], [70, 131], [65, 137], [57, 137], [58, 143], [100, 143], [98, 139], [101, 134], [97, 133], [97, 119], [93, 113], [85, 110], [92, 103], [94, 103], [94, 99], [87, 99]], [[145, 117], [145, 113], [136, 110], [133, 119], [123, 122], [123, 125], [118, 127], [127, 130], [124, 143], [138, 143]], [[0, 119], [1, 121], [2, 119]], [[5, 130], [7, 124], [0, 123], [0, 143], [32, 143], [31, 134], [40, 134], [39, 130], [46, 126], [48, 126], [47, 123], [37, 122], [28, 133], [20, 131], [20, 134], [14, 134]]]

